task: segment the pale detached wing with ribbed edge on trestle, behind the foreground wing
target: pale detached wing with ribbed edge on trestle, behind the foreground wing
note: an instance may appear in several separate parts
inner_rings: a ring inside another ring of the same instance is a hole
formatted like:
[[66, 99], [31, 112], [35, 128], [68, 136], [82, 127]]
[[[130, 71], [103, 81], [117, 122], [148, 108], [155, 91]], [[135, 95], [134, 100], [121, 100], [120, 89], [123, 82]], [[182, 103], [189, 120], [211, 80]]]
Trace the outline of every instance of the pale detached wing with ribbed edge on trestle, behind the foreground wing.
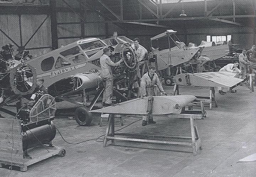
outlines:
[[234, 87], [244, 81], [235, 78], [236, 74], [230, 72], [186, 73], [174, 76], [173, 80], [178, 85]]

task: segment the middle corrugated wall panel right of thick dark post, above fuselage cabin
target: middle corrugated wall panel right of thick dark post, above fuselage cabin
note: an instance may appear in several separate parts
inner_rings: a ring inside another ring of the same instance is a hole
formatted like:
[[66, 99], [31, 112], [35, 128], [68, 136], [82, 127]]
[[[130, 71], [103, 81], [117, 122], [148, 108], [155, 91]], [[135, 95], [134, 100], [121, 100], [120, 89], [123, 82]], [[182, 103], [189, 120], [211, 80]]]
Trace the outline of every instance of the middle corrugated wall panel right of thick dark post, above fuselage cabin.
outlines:
[[62, 24], [57, 26], [58, 37], [77, 37], [81, 36], [80, 24]]

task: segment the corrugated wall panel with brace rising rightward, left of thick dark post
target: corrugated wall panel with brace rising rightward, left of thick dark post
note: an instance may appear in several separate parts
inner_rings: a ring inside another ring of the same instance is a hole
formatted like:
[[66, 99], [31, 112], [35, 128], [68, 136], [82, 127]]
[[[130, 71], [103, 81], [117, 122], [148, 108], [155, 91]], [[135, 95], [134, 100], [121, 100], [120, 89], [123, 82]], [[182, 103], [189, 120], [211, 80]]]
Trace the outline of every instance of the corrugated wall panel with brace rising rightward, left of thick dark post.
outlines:
[[[21, 15], [23, 45], [31, 38], [46, 17], [47, 15]], [[25, 48], [52, 46], [51, 38], [50, 17], [48, 17]]]

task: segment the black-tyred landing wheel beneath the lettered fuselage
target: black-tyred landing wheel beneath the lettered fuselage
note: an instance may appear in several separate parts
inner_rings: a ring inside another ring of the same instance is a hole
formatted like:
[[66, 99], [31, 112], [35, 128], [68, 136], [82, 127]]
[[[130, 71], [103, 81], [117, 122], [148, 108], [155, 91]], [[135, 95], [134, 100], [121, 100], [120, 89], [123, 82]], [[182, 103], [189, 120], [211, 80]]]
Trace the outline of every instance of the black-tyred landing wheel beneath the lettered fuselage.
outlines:
[[81, 126], [89, 126], [92, 121], [92, 113], [85, 106], [80, 106], [75, 110], [75, 119]]

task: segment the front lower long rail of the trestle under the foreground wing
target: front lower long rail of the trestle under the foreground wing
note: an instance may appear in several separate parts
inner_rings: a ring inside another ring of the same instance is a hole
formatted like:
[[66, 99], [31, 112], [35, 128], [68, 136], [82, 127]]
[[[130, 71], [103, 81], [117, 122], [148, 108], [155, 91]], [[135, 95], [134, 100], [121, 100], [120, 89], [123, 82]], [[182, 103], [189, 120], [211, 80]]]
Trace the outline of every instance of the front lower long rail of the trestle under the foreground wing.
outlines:
[[160, 140], [150, 140], [150, 139], [122, 138], [122, 137], [111, 137], [111, 136], [107, 136], [106, 138], [107, 139], [118, 139], [118, 140], [124, 140], [124, 141], [160, 143], [160, 144], [192, 145], [192, 143], [186, 143], [186, 142], [160, 141]]

